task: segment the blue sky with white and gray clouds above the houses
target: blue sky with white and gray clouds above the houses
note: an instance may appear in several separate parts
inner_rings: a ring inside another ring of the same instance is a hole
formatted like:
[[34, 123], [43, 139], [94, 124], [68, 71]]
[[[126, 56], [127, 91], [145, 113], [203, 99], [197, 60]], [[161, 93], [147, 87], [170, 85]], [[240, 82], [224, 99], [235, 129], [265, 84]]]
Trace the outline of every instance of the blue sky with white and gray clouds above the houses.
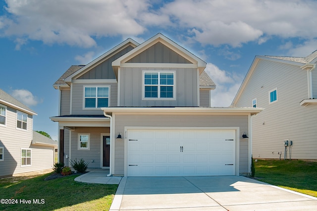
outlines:
[[316, 0], [2, 0], [0, 89], [57, 140], [53, 83], [68, 67], [162, 33], [208, 63], [211, 105], [229, 106], [256, 55], [317, 50], [316, 11]]

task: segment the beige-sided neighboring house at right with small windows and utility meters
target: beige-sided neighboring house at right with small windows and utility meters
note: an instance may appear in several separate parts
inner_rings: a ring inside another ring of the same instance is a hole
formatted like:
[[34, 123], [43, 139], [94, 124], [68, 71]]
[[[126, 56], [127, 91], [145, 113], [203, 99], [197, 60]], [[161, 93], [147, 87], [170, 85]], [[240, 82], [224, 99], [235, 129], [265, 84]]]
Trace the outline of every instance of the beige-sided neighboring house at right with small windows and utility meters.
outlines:
[[253, 158], [317, 159], [316, 63], [317, 51], [255, 57], [232, 103], [265, 108], [252, 117]]

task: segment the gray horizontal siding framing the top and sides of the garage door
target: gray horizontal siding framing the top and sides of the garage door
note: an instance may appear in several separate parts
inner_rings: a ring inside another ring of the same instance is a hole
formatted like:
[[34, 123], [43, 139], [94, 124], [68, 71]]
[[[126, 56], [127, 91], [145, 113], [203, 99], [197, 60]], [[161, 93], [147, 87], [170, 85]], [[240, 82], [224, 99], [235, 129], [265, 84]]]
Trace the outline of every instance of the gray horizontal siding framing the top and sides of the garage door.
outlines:
[[[155, 119], [155, 121], [154, 121]], [[119, 115], [115, 114], [115, 134], [125, 126], [148, 127], [239, 127], [248, 133], [248, 115]], [[248, 140], [240, 139], [240, 174], [248, 169]], [[115, 140], [114, 175], [124, 174], [124, 140]]]

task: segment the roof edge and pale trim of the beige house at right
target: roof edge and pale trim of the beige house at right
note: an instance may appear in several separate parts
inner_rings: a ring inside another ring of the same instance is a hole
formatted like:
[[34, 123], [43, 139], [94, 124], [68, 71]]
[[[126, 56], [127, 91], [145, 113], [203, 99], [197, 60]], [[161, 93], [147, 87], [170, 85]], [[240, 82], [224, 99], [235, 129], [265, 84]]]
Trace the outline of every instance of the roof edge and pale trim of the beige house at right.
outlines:
[[255, 70], [259, 60], [261, 59], [264, 59], [264, 60], [271, 60], [271, 61], [274, 61], [274, 62], [283, 62], [283, 63], [287, 63], [287, 64], [291, 64], [291, 65], [297, 65], [299, 67], [301, 67], [301, 69], [310, 69], [312, 67], [315, 67], [316, 64], [312, 64], [311, 62], [316, 62], [317, 60], [317, 51], [309, 54], [308, 56], [306, 57], [291, 57], [291, 56], [268, 56], [268, 55], [265, 55], [265, 56], [259, 56], [257, 55], [255, 57], [255, 59], [253, 60], [250, 68], [249, 68], [249, 71], [246, 75], [246, 77], [244, 78], [236, 96], [234, 97], [232, 103], [231, 103], [231, 106], [235, 106], [238, 99], [240, 98], [244, 88], [246, 87], [248, 81], [250, 80], [251, 78], [251, 75], [253, 73], [253, 71]]

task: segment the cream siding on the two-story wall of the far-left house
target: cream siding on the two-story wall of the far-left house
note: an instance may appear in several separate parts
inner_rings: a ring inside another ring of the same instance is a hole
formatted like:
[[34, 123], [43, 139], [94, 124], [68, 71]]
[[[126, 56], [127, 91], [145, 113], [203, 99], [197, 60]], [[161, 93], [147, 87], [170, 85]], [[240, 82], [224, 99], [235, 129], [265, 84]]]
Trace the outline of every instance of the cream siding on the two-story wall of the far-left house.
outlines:
[[21, 167], [21, 148], [30, 148], [32, 125], [33, 117], [28, 114], [27, 131], [16, 129], [16, 109], [7, 106], [6, 126], [0, 126], [0, 147], [4, 147], [4, 160], [0, 161], [0, 176], [34, 171], [36, 166], [33, 164]]

